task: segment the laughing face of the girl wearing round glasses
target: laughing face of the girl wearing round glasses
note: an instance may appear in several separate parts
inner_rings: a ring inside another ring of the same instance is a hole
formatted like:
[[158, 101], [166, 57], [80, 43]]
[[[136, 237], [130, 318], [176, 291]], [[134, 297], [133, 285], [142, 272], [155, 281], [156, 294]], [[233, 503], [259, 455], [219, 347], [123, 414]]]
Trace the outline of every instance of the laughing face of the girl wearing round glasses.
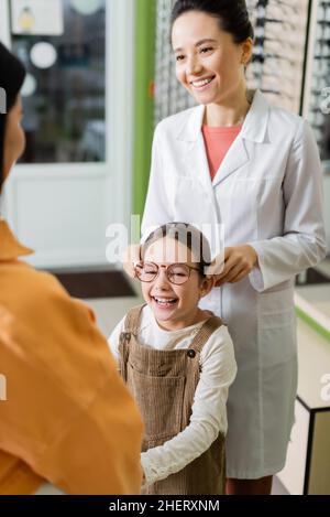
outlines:
[[164, 268], [178, 262], [198, 267], [194, 262], [191, 251], [174, 238], [165, 237], [147, 247], [143, 260], [160, 267], [155, 280], [150, 283], [141, 282], [144, 300], [151, 306], [160, 326], [175, 331], [198, 323], [202, 315], [198, 302], [210, 291], [212, 279], [202, 278], [194, 269], [185, 283], [176, 286], [169, 282]]

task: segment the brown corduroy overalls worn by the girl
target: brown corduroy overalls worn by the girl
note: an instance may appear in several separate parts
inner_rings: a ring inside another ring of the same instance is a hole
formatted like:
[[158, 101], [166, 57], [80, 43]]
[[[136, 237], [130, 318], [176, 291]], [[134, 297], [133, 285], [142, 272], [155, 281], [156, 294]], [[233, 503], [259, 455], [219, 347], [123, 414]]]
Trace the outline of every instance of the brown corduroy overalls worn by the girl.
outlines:
[[[120, 371], [142, 413], [145, 434], [142, 451], [163, 445], [190, 421], [191, 406], [200, 374], [200, 351], [222, 325], [217, 316], [207, 320], [189, 348], [163, 351], [138, 342], [144, 305], [133, 308], [120, 335]], [[224, 494], [224, 437], [219, 434], [199, 457], [166, 480], [148, 485], [142, 494]]]

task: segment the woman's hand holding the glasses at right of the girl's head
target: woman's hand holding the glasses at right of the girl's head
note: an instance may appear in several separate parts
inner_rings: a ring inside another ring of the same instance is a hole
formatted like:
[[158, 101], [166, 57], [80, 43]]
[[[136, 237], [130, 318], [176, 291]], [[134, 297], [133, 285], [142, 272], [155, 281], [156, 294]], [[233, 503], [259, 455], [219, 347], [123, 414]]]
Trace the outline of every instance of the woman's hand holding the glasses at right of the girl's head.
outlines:
[[257, 265], [257, 254], [250, 245], [233, 246], [224, 249], [224, 266], [221, 274], [216, 274], [215, 287], [237, 283]]

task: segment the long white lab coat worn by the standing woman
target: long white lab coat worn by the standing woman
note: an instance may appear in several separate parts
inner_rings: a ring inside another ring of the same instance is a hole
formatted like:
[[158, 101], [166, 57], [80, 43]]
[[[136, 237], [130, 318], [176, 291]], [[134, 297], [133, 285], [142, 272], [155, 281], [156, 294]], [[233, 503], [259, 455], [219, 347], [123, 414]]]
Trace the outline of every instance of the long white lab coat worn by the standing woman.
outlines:
[[[261, 91], [213, 181], [198, 106], [156, 128], [142, 233], [168, 222], [224, 225], [224, 245], [258, 256], [241, 282], [202, 306], [229, 326], [238, 376], [228, 401], [229, 477], [258, 478], [285, 465], [297, 389], [294, 280], [326, 255], [322, 176], [311, 130]], [[211, 243], [212, 251], [218, 250]]]

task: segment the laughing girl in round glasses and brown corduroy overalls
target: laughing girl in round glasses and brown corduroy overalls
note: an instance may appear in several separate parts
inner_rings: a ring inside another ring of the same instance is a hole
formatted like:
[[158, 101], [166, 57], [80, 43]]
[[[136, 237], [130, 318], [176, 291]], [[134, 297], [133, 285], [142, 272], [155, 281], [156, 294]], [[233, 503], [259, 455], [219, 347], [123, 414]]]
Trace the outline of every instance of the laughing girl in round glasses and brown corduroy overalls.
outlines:
[[213, 280], [193, 226], [153, 231], [135, 273], [146, 302], [110, 336], [145, 423], [143, 494], [223, 494], [226, 401], [237, 366], [227, 327], [198, 308]]

